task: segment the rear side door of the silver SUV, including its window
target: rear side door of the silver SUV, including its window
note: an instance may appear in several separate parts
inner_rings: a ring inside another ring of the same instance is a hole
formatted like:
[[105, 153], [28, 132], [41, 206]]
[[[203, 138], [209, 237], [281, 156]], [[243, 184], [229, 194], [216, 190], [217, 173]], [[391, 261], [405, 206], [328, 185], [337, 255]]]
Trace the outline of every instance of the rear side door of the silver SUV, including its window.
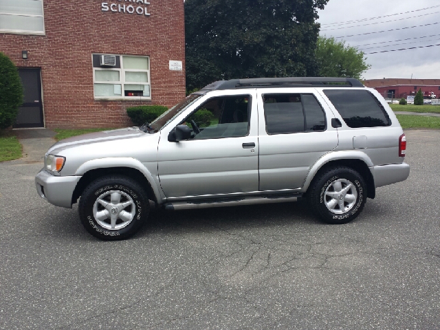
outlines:
[[333, 115], [314, 89], [259, 89], [260, 190], [303, 186], [316, 161], [338, 146]]

